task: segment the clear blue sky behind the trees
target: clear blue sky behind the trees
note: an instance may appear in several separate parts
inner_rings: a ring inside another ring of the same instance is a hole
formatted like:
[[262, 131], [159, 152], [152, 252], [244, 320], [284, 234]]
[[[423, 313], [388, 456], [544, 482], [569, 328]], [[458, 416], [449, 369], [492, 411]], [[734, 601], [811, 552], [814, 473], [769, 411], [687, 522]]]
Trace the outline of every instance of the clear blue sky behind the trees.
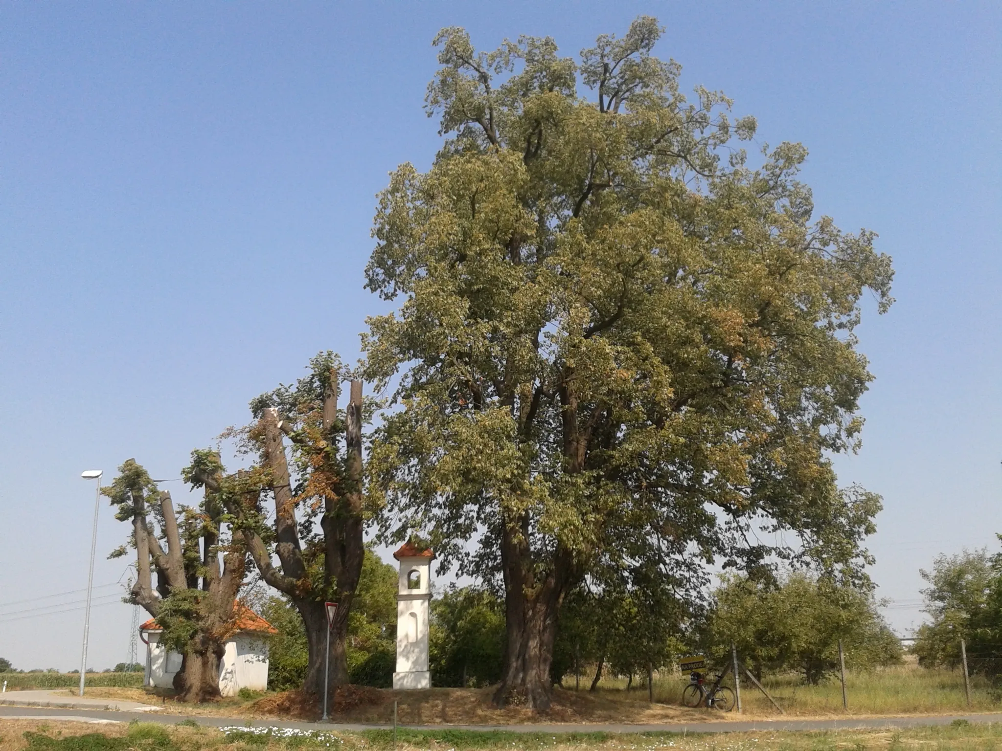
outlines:
[[[487, 48], [548, 34], [573, 54], [641, 13], [687, 88], [722, 89], [762, 141], [804, 142], [819, 213], [894, 256], [898, 302], [860, 329], [877, 377], [864, 447], [838, 463], [884, 496], [872, 573], [892, 623], [918, 621], [937, 553], [994, 545], [997, 3], [5, 3], [0, 656], [78, 666], [80, 610], [22, 611], [86, 585], [81, 471], [134, 457], [177, 478], [318, 350], [358, 355], [384, 309], [362, 288], [375, 194], [439, 142], [422, 109], [436, 31]], [[95, 584], [122, 575], [103, 559], [126, 534], [102, 505]], [[127, 657], [130, 607], [105, 600], [97, 668]]]

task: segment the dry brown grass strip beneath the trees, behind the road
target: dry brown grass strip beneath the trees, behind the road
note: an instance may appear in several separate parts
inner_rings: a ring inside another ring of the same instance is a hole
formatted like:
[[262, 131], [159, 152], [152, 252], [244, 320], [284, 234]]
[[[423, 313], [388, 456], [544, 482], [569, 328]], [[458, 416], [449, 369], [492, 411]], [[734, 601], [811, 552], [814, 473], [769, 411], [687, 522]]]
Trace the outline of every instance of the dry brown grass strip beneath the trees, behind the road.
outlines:
[[[586, 684], [578, 693], [556, 688], [553, 708], [543, 719], [556, 723], [683, 723], [707, 720], [777, 718], [779, 713], [747, 682], [742, 682], [744, 713], [721, 713], [679, 706], [686, 680], [678, 674], [655, 676], [654, 704], [647, 702], [646, 688], [623, 689], [625, 681], [603, 681], [591, 693]], [[982, 679], [973, 682], [968, 709], [963, 679], [956, 671], [932, 671], [902, 666], [849, 676], [849, 712], [842, 708], [837, 680], [820, 686], [805, 686], [796, 676], [778, 676], [767, 686], [787, 716], [799, 718], [887, 717], [894, 715], [949, 714], [953, 712], [999, 711], [1000, 694]], [[388, 724], [393, 721], [393, 703], [398, 703], [398, 721], [412, 725], [504, 725], [538, 722], [539, 715], [523, 707], [497, 709], [491, 705], [492, 689], [435, 688], [428, 691], [391, 691], [367, 687], [339, 689], [332, 700], [334, 717], [342, 722]], [[69, 694], [71, 692], [67, 692]], [[319, 700], [299, 691], [269, 694], [257, 700], [236, 697], [211, 704], [190, 705], [175, 701], [169, 692], [149, 689], [94, 688], [87, 695], [127, 699], [161, 706], [164, 712], [185, 715], [215, 715], [255, 719], [304, 719], [320, 717]]]

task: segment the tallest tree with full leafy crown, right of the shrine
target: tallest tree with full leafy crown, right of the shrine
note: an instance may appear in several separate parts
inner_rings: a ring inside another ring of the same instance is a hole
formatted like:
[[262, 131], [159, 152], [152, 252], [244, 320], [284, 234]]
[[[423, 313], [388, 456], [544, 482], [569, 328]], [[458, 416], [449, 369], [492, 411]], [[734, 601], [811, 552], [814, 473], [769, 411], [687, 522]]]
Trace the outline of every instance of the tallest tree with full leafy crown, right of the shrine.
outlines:
[[374, 493], [388, 535], [500, 570], [499, 703], [549, 706], [560, 604], [596, 556], [852, 574], [880, 507], [840, 493], [826, 456], [857, 445], [853, 330], [865, 289], [890, 304], [890, 259], [812, 220], [802, 146], [748, 166], [731, 140], [754, 120], [705, 89], [689, 103], [659, 35], [639, 18], [575, 62], [445, 29], [427, 102], [448, 137], [380, 198], [367, 284], [402, 305], [364, 347], [402, 409]]

